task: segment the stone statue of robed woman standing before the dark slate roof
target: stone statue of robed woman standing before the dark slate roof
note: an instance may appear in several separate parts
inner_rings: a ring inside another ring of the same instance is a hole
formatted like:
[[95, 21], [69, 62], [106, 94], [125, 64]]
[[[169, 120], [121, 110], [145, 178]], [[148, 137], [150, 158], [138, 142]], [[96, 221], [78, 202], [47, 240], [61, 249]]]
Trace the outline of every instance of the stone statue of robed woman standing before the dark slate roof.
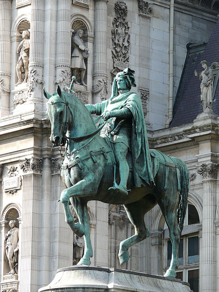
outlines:
[[206, 61], [201, 61], [201, 66], [204, 69], [200, 74], [195, 70], [195, 75], [200, 77], [201, 80], [201, 104], [203, 111], [207, 108], [212, 109], [212, 86], [213, 86], [213, 72]]

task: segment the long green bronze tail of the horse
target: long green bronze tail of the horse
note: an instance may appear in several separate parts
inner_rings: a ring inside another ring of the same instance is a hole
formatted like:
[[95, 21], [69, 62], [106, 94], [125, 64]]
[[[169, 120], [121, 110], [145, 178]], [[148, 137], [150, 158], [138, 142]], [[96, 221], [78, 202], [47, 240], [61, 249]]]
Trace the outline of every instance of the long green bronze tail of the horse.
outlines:
[[186, 165], [178, 158], [171, 157], [174, 164], [176, 164], [179, 167], [180, 170], [180, 202], [177, 209], [177, 218], [180, 226], [180, 230], [182, 232], [183, 230], [183, 222], [185, 219], [185, 212], [187, 207], [187, 198], [188, 198], [188, 191], [189, 191], [189, 172]]

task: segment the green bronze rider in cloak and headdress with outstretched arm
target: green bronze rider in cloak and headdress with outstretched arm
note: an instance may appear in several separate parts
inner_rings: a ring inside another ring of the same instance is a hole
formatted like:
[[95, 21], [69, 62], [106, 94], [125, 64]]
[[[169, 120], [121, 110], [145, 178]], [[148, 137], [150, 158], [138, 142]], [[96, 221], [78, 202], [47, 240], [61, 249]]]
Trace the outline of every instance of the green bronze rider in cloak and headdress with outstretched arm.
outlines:
[[86, 105], [91, 113], [101, 115], [110, 124], [110, 141], [114, 144], [116, 162], [119, 164], [120, 183], [110, 187], [128, 195], [128, 150], [132, 154], [134, 185], [154, 186], [151, 159], [146, 134], [144, 113], [138, 94], [130, 91], [136, 87], [133, 70], [129, 68], [116, 74], [110, 99], [95, 105]]

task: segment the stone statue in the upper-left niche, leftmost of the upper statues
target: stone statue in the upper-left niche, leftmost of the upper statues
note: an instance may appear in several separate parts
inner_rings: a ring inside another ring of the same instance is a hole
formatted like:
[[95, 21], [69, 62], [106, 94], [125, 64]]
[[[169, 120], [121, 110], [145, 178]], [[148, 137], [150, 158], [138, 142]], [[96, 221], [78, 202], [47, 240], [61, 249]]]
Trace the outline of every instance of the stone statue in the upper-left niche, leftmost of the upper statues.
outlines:
[[[25, 30], [22, 32], [23, 40], [20, 42], [17, 53], [18, 63], [16, 66], [16, 71], [18, 75], [18, 82], [15, 84], [17, 86], [21, 83], [27, 83], [28, 77], [28, 64], [29, 64], [29, 50], [30, 50], [30, 33]], [[24, 72], [24, 78], [22, 80], [22, 72]], [[23, 81], [23, 82], [22, 82]]]

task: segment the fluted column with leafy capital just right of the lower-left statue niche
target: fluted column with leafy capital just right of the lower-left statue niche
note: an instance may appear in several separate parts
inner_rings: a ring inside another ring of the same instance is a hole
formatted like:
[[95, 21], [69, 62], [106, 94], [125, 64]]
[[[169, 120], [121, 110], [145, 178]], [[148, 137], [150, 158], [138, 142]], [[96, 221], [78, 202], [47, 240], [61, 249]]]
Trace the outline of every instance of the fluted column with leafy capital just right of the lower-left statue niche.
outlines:
[[[43, 283], [38, 273], [42, 250], [40, 242], [40, 200], [41, 200], [41, 173], [42, 158], [26, 158], [20, 161], [23, 170], [23, 196], [22, 196], [22, 233], [19, 241], [19, 269], [20, 291], [36, 291], [38, 285]], [[41, 239], [43, 241], [43, 238]], [[40, 282], [41, 281], [41, 282]]]

